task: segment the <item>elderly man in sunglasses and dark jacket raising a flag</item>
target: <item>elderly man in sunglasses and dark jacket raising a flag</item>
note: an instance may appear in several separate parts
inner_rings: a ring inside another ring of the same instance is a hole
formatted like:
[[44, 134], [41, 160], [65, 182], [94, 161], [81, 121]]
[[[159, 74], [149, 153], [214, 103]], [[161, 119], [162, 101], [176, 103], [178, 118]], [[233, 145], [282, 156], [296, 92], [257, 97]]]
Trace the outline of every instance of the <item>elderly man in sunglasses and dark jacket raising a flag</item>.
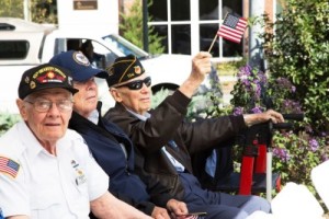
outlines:
[[206, 211], [207, 219], [242, 219], [256, 210], [270, 211], [270, 204], [258, 196], [203, 189], [193, 175], [191, 155], [218, 146], [249, 125], [268, 119], [281, 122], [281, 114], [269, 111], [184, 123], [191, 96], [211, 71], [208, 53], [198, 53], [193, 58], [186, 81], [150, 112], [151, 79], [136, 57], [120, 57], [106, 70], [116, 105], [105, 118], [122, 127], [135, 143], [136, 153], [143, 155], [137, 160], [143, 162], [136, 162], [136, 171], [146, 183], [155, 187], [166, 185], [172, 196], [188, 204], [190, 211]]

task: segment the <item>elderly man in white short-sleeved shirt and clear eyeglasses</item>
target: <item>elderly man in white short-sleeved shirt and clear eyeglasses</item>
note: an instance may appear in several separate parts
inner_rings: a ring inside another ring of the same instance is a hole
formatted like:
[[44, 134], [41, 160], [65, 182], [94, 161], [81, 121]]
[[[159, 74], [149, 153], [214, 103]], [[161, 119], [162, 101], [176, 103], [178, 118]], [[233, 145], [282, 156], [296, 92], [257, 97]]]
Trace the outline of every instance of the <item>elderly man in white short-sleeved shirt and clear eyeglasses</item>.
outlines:
[[70, 73], [54, 65], [26, 70], [16, 100], [22, 122], [0, 138], [4, 218], [150, 218], [107, 192], [109, 177], [82, 137], [67, 129]]

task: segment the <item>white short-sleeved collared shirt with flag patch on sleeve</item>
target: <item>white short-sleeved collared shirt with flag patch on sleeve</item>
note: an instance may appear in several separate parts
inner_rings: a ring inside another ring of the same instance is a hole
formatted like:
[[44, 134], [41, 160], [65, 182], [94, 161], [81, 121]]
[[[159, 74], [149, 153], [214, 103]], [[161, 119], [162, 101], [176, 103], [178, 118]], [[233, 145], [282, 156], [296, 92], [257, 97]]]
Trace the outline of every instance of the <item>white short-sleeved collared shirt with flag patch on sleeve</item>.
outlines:
[[109, 177], [73, 130], [57, 141], [56, 152], [48, 153], [24, 122], [0, 138], [0, 157], [20, 165], [15, 177], [0, 172], [4, 217], [89, 218], [90, 201], [105, 194]]

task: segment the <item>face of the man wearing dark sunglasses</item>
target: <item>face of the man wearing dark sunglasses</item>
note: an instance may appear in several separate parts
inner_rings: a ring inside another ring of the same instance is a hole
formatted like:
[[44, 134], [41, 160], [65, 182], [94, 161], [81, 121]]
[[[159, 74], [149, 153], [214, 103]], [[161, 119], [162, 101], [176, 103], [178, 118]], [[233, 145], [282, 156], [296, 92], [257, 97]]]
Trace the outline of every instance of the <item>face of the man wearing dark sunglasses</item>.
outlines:
[[[132, 90], [128, 87], [128, 84], [136, 83], [138, 81], [141, 83], [140, 87], [137, 87], [139, 89]], [[114, 88], [111, 88], [110, 91], [116, 102], [122, 103], [125, 107], [134, 111], [137, 114], [143, 115], [150, 108], [151, 89], [150, 81], [148, 81], [146, 73], [124, 83], [117, 84]]]

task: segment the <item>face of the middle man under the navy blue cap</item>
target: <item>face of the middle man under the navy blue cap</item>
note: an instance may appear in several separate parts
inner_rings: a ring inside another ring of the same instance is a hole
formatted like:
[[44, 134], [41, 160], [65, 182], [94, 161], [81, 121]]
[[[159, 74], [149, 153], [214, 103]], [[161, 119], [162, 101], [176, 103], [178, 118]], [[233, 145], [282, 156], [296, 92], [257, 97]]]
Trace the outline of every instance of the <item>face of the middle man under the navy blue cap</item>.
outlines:
[[94, 78], [87, 81], [73, 81], [73, 87], [79, 90], [73, 96], [73, 110], [83, 117], [88, 117], [98, 105], [98, 85]]

